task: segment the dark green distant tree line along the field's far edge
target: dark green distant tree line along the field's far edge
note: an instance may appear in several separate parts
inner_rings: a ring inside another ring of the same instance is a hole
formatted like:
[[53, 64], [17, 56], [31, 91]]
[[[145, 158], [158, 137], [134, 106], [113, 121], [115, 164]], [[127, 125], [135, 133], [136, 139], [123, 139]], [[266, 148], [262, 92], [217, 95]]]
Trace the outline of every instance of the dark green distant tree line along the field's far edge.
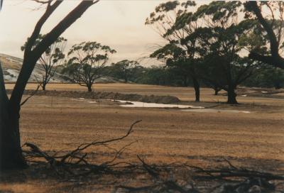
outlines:
[[[125, 60], [124, 60], [125, 61]], [[121, 63], [121, 62], [118, 62]], [[138, 62], [137, 62], [138, 63]], [[192, 79], [186, 73], [180, 73], [178, 70], [167, 66], [153, 65], [151, 67], [143, 67], [136, 65], [129, 69], [129, 77], [126, 79], [122, 76], [124, 68], [116, 66], [116, 63], [106, 67], [104, 75], [109, 75], [121, 82], [137, 83], [137, 84], [153, 84], [172, 87], [193, 87]], [[200, 81], [201, 87], [210, 87], [217, 93], [221, 90], [212, 82], [206, 79]], [[240, 84], [244, 87], [264, 87], [280, 89], [284, 87], [284, 70], [271, 66], [261, 67], [257, 73], [251, 75], [248, 79]]]

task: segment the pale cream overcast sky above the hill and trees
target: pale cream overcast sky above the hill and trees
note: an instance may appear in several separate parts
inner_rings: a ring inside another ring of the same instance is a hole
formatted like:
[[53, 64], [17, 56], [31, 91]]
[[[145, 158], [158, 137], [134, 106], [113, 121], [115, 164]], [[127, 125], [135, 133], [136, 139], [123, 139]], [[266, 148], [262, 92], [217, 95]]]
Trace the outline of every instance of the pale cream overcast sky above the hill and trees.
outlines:
[[[68, 39], [67, 49], [82, 41], [97, 41], [109, 45], [117, 53], [111, 57], [111, 62], [129, 59], [138, 60], [153, 51], [153, 47], [165, 42], [149, 26], [145, 20], [158, 6], [158, 0], [101, 0], [91, 6], [62, 36]], [[201, 1], [203, 4], [205, 1]], [[65, 1], [53, 13], [41, 33], [47, 33], [60, 21], [78, 1]], [[23, 57], [21, 45], [26, 41], [42, 10], [28, 0], [4, 0], [0, 12], [0, 53]], [[151, 60], [143, 60], [145, 65], [153, 65]]]

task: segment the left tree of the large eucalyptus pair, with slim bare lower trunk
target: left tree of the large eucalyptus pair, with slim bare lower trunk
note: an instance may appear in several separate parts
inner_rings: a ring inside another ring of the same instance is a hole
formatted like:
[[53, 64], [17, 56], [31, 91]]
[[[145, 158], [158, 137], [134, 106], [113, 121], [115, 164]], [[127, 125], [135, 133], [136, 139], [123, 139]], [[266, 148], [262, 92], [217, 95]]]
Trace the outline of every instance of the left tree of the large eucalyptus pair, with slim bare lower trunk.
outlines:
[[[160, 4], [146, 18], [146, 25], [154, 28], [167, 40], [163, 48], [156, 50], [151, 57], [162, 60], [168, 67], [180, 69], [192, 79], [195, 88], [195, 101], [200, 101], [200, 82], [197, 75], [196, 38], [197, 20], [189, 10], [196, 6], [194, 1], [168, 1]], [[165, 53], [162, 53], [165, 52]]]

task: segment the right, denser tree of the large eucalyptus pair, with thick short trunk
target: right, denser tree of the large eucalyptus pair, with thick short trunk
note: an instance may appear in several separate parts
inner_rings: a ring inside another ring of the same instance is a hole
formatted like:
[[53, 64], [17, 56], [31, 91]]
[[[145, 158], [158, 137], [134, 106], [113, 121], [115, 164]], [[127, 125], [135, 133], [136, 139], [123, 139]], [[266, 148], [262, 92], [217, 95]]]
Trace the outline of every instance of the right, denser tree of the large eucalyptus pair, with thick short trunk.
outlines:
[[241, 56], [245, 46], [240, 42], [252, 25], [239, 16], [241, 9], [240, 1], [212, 1], [195, 12], [204, 22], [195, 31], [197, 50], [202, 55], [202, 78], [224, 89], [229, 104], [237, 104], [237, 85], [256, 69], [256, 62]]

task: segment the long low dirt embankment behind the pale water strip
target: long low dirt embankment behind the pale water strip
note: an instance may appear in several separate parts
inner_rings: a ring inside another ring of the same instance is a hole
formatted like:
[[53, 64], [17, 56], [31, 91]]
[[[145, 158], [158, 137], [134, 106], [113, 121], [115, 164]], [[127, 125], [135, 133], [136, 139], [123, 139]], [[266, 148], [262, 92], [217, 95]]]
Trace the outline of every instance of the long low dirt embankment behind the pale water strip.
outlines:
[[[11, 90], [7, 91], [11, 93]], [[30, 95], [34, 90], [26, 90], [24, 94]], [[146, 103], [160, 104], [176, 104], [180, 99], [176, 96], [156, 96], [156, 95], [141, 95], [141, 94], [121, 94], [119, 92], [80, 92], [80, 91], [38, 91], [35, 95], [38, 96], [61, 96], [72, 98], [85, 99], [111, 99], [123, 101], [141, 101]]]

